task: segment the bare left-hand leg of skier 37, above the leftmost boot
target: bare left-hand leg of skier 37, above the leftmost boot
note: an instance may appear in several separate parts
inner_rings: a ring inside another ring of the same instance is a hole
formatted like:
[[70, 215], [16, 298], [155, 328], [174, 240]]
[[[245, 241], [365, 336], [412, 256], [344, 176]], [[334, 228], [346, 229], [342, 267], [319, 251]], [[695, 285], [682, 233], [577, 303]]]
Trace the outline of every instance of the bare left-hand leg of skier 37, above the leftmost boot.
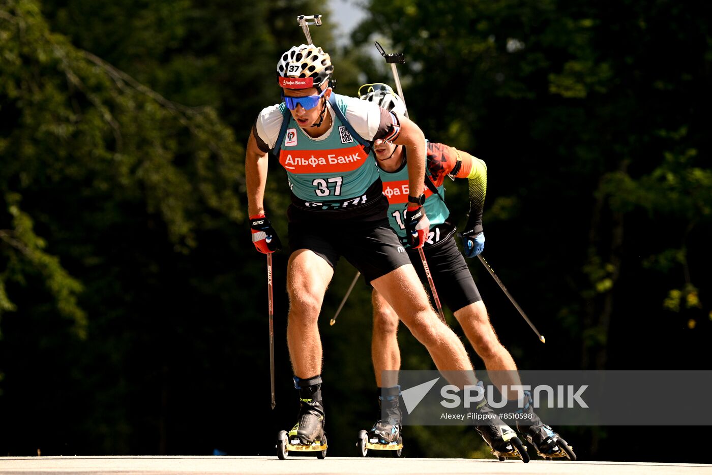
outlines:
[[298, 250], [289, 258], [287, 292], [289, 316], [287, 345], [294, 374], [312, 378], [321, 374], [322, 348], [319, 312], [334, 270], [310, 250]]

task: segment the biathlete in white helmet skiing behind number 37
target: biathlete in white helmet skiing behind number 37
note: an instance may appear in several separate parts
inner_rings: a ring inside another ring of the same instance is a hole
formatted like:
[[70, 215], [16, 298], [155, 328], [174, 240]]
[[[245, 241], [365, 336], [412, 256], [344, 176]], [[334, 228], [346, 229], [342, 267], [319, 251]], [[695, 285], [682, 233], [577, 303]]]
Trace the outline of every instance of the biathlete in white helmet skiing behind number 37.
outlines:
[[[366, 102], [396, 112], [405, 113], [405, 104], [400, 97], [385, 84], [367, 84], [359, 89], [359, 96]], [[373, 151], [383, 182], [383, 192], [389, 201], [388, 217], [391, 227], [401, 242], [406, 243], [407, 230], [404, 221], [406, 203], [407, 164], [410, 155], [399, 144], [387, 139], [376, 139]], [[470, 213], [462, 237], [463, 252], [466, 257], [475, 257], [484, 249], [485, 235], [482, 228], [482, 214], [487, 190], [487, 167], [485, 162], [465, 151], [434, 142], [426, 143], [426, 166], [424, 174], [425, 201], [423, 207], [430, 222], [423, 251], [433, 278], [436, 293], [444, 306], [453, 312], [476, 353], [483, 359], [493, 383], [520, 385], [517, 366], [506, 348], [500, 343], [489, 321], [485, 304], [478, 292], [474, 279], [455, 242], [456, 227], [451, 221], [450, 211], [445, 203], [445, 178], [466, 178], [470, 198]], [[420, 279], [427, 285], [426, 274], [419, 252], [407, 248], [407, 255]], [[431, 295], [432, 297], [432, 295]], [[379, 402], [382, 414], [371, 432], [382, 442], [392, 442], [400, 437], [401, 412], [399, 407], [400, 386], [397, 381], [382, 380], [383, 373], [390, 377], [397, 375], [400, 368], [400, 351], [397, 340], [398, 317], [387, 299], [378, 289], [373, 289], [373, 338], [371, 352], [376, 383], [379, 387]], [[508, 392], [512, 399], [509, 408], [513, 413], [525, 412], [527, 417], [516, 418], [516, 427], [525, 439], [533, 444], [543, 457], [560, 457], [565, 452], [565, 442], [551, 427], [545, 425], [533, 412], [530, 394], [523, 395], [523, 406], [518, 407], [518, 392]], [[490, 443], [486, 427], [478, 426], [483, 438]], [[493, 444], [490, 443], [492, 446]], [[495, 448], [495, 447], [493, 447]], [[569, 449], [569, 447], [565, 447]], [[575, 458], [575, 456], [570, 456]]]

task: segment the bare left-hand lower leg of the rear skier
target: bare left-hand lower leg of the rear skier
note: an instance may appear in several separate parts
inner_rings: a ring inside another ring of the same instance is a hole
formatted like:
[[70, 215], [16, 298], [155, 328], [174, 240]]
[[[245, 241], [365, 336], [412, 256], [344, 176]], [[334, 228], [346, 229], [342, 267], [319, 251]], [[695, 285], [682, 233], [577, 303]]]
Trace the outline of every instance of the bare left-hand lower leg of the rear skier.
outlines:
[[398, 316], [376, 289], [373, 289], [371, 301], [373, 304], [371, 357], [376, 373], [376, 385], [379, 388], [390, 388], [398, 384], [397, 373], [386, 373], [386, 378], [383, 380], [382, 371], [400, 369]]

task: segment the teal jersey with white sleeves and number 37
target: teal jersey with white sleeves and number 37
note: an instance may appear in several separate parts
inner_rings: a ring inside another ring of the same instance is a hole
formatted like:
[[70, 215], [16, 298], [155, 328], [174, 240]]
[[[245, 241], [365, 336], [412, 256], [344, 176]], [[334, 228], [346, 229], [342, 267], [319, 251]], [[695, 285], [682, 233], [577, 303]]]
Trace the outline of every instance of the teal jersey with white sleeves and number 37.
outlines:
[[[382, 129], [382, 110], [353, 97], [334, 95], [351, 127], [366, 140]], [[275, 144], [286, 105], [267, 107], [256, 132], [270, 148], [280, 146], [279, 163], [287, 171], [293, 204], [308, 210], [345, 210], [371, 204], [381, 195], [378, 167], [371, 153], [353, 138], [331, 112], [333, 124], [321, 137], [309, 137], [287, 114], [289, 124], [281, 144]], [[331, 105], [327, 102], [327, 107]]]

